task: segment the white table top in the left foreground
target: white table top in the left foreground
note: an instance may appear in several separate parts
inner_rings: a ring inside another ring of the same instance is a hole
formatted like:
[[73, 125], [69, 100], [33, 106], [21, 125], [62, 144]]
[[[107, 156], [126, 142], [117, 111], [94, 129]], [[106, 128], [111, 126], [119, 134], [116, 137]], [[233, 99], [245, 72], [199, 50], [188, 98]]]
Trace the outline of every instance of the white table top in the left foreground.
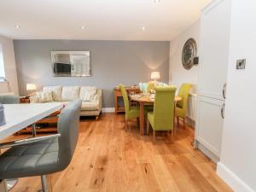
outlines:
[[0, 126], [0, 139], [9, 137], [17, 131], [32, 125], [49, 114], [62, 108], [61, 102], [5, 104], [6, 124]]

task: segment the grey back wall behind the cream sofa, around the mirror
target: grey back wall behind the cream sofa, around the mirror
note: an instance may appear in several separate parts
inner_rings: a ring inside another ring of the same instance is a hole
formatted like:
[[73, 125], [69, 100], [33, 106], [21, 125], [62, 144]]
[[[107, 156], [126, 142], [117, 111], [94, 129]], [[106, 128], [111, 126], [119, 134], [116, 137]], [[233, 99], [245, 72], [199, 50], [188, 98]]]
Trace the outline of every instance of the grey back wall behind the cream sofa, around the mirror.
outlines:
[[[44, 85], [95, 85], [103, 91], [103, 108], [113, 107], [113, 88], [148, 82], [151, 71], [169, 81], [169, 42], [14, 40], [20, 95], [26, 83]], [[92, 76], [53, 77], [50, 51], [90, 50]]]

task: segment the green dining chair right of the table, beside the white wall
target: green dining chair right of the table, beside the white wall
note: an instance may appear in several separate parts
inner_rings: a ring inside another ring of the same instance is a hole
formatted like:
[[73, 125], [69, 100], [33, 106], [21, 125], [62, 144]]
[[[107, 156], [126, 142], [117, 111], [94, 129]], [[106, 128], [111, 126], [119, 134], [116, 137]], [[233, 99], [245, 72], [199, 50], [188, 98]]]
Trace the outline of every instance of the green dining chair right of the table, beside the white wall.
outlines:
[[177, 117], [177, 126], [179, 126], [179, 119], [183, 119], [183, 128], [185, 128], [186, 113], [189, 105], [189, 90], [192, 86], [193, 84], [182, 84], [178, 91], [178, 96], [182, 97], [182, 100], [177, 102], [175, 115]]

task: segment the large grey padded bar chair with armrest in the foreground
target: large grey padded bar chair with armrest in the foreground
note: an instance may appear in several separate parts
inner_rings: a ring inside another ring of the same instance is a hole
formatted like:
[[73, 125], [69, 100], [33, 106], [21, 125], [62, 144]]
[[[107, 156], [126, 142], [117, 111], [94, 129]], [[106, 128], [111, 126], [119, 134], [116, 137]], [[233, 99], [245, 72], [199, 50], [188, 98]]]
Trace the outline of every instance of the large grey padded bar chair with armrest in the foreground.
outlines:
[[41, 176], [42, 190], [51, 191], [47, 174], [61, 172], [73, 158], [81, 104], [75, 100], [61, 110], [58, 134], [0, 144], [0, 148], [11, 147], [0, 156], [0, 179]]

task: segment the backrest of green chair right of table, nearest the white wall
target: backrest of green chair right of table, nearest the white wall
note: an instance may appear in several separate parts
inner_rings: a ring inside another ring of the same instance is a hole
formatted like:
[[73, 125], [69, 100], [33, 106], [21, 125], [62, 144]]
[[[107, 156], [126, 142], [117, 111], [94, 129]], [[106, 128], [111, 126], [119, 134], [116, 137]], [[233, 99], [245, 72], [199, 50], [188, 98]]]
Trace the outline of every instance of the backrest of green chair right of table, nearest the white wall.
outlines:
[[187, 111], [188, 102], [189, 102], [189, 90], [192, 88], [192, 84], [182, 84], [178, 96], [182, 97], [180, 102], [177, 102], [177, 108], [182, 108], [184, 111]]

